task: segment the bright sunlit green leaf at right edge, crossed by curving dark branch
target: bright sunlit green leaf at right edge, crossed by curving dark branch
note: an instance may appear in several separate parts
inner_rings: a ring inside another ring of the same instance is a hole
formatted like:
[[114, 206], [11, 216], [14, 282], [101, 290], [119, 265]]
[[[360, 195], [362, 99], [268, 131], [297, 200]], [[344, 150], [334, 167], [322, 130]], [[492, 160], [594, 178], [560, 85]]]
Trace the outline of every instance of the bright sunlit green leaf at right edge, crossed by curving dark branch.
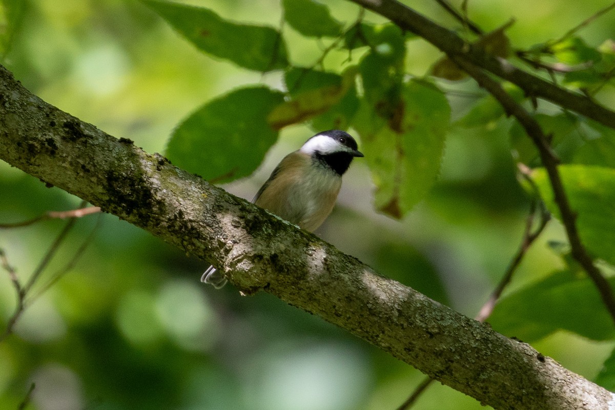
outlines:
[[[587, 165], [560, 165], [558, 170], [582, 243], [593, 257], [615, 264], [615, 170]], [[532, 178], [549, 210], [560, 215], [546, 170], [534, 170]]]

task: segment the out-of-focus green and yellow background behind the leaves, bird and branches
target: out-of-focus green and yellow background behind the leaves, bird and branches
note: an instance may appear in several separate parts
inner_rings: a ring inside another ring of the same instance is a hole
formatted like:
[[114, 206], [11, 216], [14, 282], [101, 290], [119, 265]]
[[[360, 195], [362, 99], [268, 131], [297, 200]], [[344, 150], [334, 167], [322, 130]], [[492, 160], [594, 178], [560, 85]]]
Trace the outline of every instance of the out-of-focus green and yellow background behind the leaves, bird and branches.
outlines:
[[[200, 53], [138, 1], [25, 4], [3, 64], [42, 99], [149, 152], [164, 152], [173, 128], [216, 95], [245, 84], [282, 87], [280, 73], [253, 73]], [[190, 4], [238, 22], [280, 22], [274, 0]], [[560, 37], [608, 4], [472, 0], [469, 10], [486, 30], [515, 18], [507, 33], [515, 47], [528, 48]], [[328, 5], [342, 22], [354, 22], [359, 13], [350, 2]], [[457, 27], [434, 1], [411, 6]], [[384, 21], [369, 13], [367, 19]], [[581, 35], [597, 46], [615, 36], [613, 27], [615, 14], [608, 14]], [[327, 45], [305, 41], [288, 27], [284, 34], [296, 65], [311, 65]], [[421, 40], [408, 48], [408, 73], [414, 76], [426, 74], [440, 57]], [[353, 53], [353, 60], [360, 55]], [[334, 52], [325, 68], [335, 69], [346, 57]], [[455, 84], [444, 83], [443, 89], [454, 119], [480, 95], [459, 93]], [[402, 221], [373, 210], [370, 173], [356, 160], [344, 176], [338, 206], [317, 234], [381, 274], [474, 317], [517, 249], [529, 208], [510, 155], [510, 124], [499, 119], [480, 129], [453, 127], [438, 183]], [[306, 125], [285, 128], [259, 170], [225, 188], [251, 199], [277, 162], [312, 133]], [[80, 202], [0, 162], [0, 223]], [[22, 280], [65, 224], [49, 220], [0, 230], [0, 248]], [[564, 239], [552, 221], [507, 292], [563, 267], [547, 243]], [[268, 294], [244, 298], [232, 286], [203, 286], [204, 262], [111, 215], [80, 219], [34, 290], [62, 273], [84, 243], [73, 269], [41, 293], [15, 333], [0, 342], [0, 408], [17, 408], [36, 382], [30, 406], [41, 410], [389, 410], [423, 380], [410, 366]], [[2, 329], [14, 307], [14, 288], [0, 269]], [[533, 345], [590, 379], [615, 347], [565, 331]], [[416, 408], [483, 407], [434, 384]]]

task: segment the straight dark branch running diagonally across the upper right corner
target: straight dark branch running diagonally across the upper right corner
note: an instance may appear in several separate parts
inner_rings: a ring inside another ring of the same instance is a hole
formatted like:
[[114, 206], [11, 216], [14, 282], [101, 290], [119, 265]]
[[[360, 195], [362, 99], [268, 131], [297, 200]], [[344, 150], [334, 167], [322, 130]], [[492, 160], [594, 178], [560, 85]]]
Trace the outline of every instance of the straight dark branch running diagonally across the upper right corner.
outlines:
[[409, 30], [423, 37], [451, 59], [467, 61], [485, 69], [502, 79], [520, 87], [529, 97], [544, 98], [562, 108], [577, 112], [615, 128], [615, 112], [595, 103], [580, 93], [574, 93], [558, 87], [541, 77], [527, 73], [515, 67], [504, 58], [494, 57], [477, 44], [469, 44], [453, 31], [437, 25], [410, 7], [395, 0], [351, 0], [372, 10], [376, 14], [389, 18], [403, 30]]

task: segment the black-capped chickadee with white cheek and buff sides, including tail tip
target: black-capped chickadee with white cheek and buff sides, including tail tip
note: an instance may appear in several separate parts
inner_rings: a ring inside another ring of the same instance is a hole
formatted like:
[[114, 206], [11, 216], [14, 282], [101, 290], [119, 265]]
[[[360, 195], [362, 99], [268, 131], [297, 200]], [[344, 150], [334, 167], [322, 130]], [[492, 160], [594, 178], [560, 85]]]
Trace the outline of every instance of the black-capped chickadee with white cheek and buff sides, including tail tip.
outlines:
[[[363, 154], [349, 133], [342, 130], [319, 132], [280, 161], [252, 202], [313, 232], [333, 210], [342, 175], [355, 157], [363, 157]], [[216, 289], [227, 282], [213, 266], [205, 270], [200, 280]]]

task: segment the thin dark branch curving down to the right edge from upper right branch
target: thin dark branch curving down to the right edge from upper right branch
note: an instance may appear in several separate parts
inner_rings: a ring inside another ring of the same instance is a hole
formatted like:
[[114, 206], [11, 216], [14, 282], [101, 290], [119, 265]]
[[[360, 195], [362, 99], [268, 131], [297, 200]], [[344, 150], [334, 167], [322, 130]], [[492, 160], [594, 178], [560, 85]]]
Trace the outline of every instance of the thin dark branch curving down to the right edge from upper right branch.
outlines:
[[558, 158], [549, 146], [548, 138], [544, 132], [542, 132], [540, 124], [538, 124], [536, 119], [534, 119], [534, 117], [531, 116], [525, 108], [523, 108], [520, 104], [517, 104], [517, 102], [510, 97], [504, 89], [502, 89], [498, 82], [491, 79], [491, 77], [485, 74], [482, 69], [477, 68], [477, 66], [472, 65], [461, 58], [457, 58], [454, 55], [449, 57], [451, 57], [453, 61], [455, 61], [464, 71], [466, 71], [466, 73], [474, 77], [478, 85], [488, 90], [488, 92], [490, 92], [491, 95], [499, 101], [504, 108], [504, 111], [506, 111], [508, 115], [514, 116], [518, 120], [519, 124], [522, 125], [525, 132], [528, 136], [530, 136], [531, 140], [538, 148], [542, 165], [549, 176], [549, 182], [554, 193], [555, 203], [560, 211], [561, 222], [566, 229], [566, 235], [568, 236], [568, 241], [570, 242], [573, 258], [581, 264], [585, 272], [587, 272], [587, 275], [592, 279], [594, 285], [600, 293], [603, 303], [605, 304], [606, 310], [608, 310], [609, 314], [615, 321], [615, 298], [613, 298], [611, 285], [601, 274], [600, 270], [593, 264], [592, 258], [590, 258], [589, 254], [585, 250], [585, 246], [581, 242], [581, 237], [579, 236], [579, 231], [576, 226], [576, 213], [570, 207], [568, 197], [566, 196], [566, 191], [563, 183], [561, 182], [560, 173], [557, 169]]

